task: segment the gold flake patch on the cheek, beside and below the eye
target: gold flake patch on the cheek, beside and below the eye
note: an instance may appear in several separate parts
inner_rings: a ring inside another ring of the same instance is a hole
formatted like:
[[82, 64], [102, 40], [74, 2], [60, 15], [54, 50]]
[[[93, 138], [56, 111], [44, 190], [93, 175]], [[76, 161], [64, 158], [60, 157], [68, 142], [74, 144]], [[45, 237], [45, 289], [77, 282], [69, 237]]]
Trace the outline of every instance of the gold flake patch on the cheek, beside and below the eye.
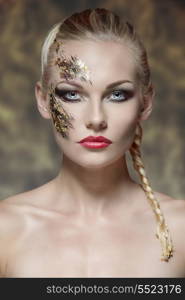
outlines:
[[50, 87], [50, 111], [56, 130], [62, 134], [63, 137], [68, 136], [68, 129], [73, 128], [71, 120], [73, 119], [65, 109], [62, 107], [61, 101], [55, 97], [53, 87]]

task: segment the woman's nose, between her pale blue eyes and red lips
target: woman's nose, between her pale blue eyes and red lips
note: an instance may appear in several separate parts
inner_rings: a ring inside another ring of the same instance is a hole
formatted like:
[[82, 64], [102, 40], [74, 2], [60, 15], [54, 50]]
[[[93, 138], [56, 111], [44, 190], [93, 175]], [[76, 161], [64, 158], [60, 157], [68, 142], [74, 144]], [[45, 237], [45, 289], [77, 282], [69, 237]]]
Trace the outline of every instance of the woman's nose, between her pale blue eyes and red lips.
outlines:
[[92, 101], [86, 116], [86, 127], [99, 131], [107, 128], [107, 120], [105, 112], [103, 111], [102, 103]]

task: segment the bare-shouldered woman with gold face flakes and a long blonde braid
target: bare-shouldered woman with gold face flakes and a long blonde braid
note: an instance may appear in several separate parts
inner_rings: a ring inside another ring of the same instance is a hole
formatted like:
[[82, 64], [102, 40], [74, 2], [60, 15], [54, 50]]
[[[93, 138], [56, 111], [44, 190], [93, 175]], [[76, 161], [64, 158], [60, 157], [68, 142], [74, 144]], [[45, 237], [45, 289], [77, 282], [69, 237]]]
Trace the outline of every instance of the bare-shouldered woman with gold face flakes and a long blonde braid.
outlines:
[[35, 91], [63, 161], [1, 203], [2, 277], [184, 277], [185, 202], [153, 192], [141, 159], [154, 91], [133, 27], [105, 9], [57, 24]]

